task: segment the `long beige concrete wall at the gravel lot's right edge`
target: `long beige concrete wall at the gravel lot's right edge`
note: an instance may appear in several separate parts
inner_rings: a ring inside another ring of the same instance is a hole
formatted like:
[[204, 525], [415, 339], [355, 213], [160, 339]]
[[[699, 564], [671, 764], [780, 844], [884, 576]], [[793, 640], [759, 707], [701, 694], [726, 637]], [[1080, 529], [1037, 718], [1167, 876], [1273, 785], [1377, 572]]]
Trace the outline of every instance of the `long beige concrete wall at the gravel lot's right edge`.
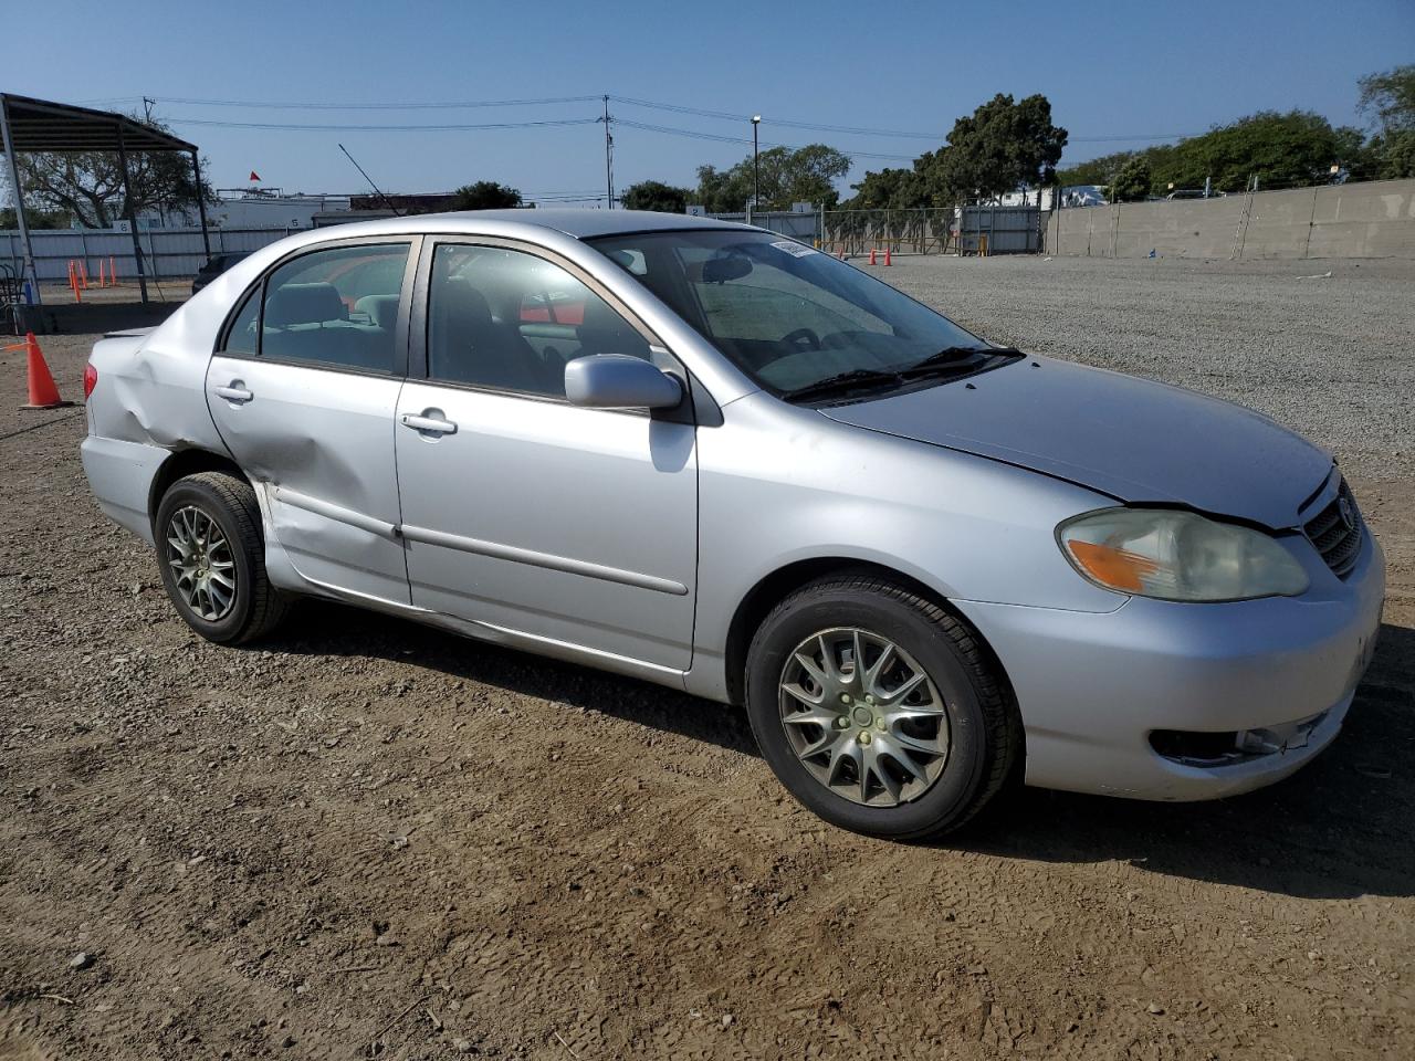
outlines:
[[1412, 257], [1415, 180], [1053, 211], [1049, 255]]

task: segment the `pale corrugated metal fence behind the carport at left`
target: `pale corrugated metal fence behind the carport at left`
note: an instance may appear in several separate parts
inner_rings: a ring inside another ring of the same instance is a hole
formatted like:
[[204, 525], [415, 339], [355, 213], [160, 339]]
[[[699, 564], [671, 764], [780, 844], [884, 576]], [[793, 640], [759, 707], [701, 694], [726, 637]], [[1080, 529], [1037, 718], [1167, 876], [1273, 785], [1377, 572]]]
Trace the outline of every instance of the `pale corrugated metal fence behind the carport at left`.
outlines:
[[[289, 228], [214, 228], [211, 229], [211, 253], [249, 253], [284, 239], [291, 232], [306, 229]], [[201, 245], [201, 229], [149, 229], [137, 233], [143, 249], [143, 266], [149, 277], [173, 279], [195, 276], [207, 260]], [[38, 229], [30, 232], [34, 248], [34, 269], [40, 280], [67, 280], [68, 263], [72, 259], [88, 262], [91, 277], [98, 276], [98, 263], [113, 259], [117, 274], [123, 280], [137, 276], [133, 259], [133, 236], [116, 229]], [[18, 232], [0, 232], [0, 262], [7, 262], [16, 276], [24, 270], [24, 243]]]

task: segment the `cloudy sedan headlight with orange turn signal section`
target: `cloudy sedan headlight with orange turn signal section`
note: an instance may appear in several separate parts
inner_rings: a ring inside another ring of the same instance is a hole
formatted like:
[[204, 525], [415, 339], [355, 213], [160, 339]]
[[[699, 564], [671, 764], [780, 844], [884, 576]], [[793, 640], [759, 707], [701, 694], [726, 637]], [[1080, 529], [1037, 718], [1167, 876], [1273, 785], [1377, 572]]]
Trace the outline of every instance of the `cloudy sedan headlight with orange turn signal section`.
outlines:
[[1159, 600], [1295, 597], [1307, 574], [1272, 538], [1196, 512], [1107, 508], [1068, 519], [1057, 542], [1107, 590]]

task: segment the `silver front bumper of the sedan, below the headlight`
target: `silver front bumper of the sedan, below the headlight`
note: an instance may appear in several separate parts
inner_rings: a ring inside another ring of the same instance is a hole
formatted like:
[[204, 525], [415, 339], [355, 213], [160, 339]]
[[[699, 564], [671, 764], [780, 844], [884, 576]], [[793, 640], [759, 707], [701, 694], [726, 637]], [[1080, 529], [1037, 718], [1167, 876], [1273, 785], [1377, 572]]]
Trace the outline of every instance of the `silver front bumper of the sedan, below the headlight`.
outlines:
[[[1227, 604], [1132, 597], [1105, 614], [955, 601], [1017, 695], [1027, 784], [1213, 799], [1309, 763], [1340, 731], [1380, 631], [1385, 557], [1370, 530], [1364, 535], [1346, 579], [1305, 540], [1292, 540], [1312, 579], [1300, 597]], [[1293, 726], [1300, 721], [1307, 724]], [[1278, 740], [1269, 751], [1254, 740], [1257, 754], [1196, 765], [1155, 750], [1152, 737], [1165, 730], [1300, 733], [1300, 740]]]

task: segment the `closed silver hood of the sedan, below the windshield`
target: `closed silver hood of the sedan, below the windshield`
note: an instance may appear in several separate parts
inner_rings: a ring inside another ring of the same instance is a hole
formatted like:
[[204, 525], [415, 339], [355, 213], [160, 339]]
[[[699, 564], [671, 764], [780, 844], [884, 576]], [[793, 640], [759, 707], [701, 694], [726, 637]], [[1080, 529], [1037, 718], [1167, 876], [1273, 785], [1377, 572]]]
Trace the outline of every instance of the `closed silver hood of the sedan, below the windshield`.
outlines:
[[1180, 504], [1274, 529], [1296, 526], [1332, 472], [1332, 454], [1251, 409], [1051, 358], [821, 412], [1129, 504]]

